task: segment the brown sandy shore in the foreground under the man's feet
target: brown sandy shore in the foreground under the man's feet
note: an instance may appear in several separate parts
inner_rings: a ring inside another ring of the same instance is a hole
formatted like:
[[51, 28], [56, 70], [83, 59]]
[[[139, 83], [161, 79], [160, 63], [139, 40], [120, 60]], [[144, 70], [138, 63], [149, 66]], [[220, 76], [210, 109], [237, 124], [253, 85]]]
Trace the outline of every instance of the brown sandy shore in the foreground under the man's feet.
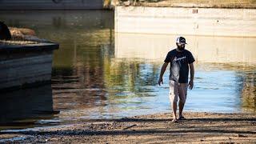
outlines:
[[117, 120], [91, 120], [58, 128], [4, 132], [0, 142], [18, 143], [256, 143], [256, 114], [186, 113], [173, 123], [170, 114]]

